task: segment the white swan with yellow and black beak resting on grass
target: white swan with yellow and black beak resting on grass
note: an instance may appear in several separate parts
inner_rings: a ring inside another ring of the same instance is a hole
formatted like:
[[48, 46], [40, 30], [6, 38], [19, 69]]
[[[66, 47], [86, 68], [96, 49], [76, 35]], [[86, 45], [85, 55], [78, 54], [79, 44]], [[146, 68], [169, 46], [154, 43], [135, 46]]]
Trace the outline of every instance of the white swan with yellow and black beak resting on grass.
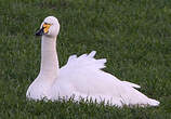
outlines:
[[29, 85], [26, 97], [40, 101], [48, 98], [71, 97], [76, 101], [88, 98], [102, 101], [122, 107], [123, 105], [158, 106], [159, 102], [147, 97], [136, 90], [140, 85], [121, 81], [103, 71], [105, 58], [95, 60], [95, 51], [81, 56], [71, 55], [65, 66], [58, 66], [56, 38], [60, 23], [56, 17], [48, 16], [36, 34], [41, 36], [41, 66], [38, 77]]

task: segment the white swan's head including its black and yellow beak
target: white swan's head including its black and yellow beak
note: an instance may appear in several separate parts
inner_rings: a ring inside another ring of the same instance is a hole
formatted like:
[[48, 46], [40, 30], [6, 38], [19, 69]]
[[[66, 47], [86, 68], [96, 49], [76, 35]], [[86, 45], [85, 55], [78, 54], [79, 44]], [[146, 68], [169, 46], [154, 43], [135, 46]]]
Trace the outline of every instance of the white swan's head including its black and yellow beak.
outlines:
[[57, 37], [60, 31], [60, 24], [56, 17], [48, 16], [42, 22], [40, 29], [36, 36]]

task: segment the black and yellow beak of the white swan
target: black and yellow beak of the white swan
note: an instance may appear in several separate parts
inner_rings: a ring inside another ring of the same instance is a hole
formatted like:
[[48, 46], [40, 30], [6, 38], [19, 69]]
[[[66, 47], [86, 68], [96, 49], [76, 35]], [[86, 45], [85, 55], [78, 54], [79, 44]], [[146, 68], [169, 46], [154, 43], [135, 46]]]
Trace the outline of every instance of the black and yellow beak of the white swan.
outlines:
[[47, 23], [44, 23], [44, 24], [42, 25], [42, 28], [39, 29], [39, 30], [36, 32], [36, 36], [42, 36], [42, 35], [48, 34], [50, 27], [51, 27], [51, 24], [47, 24]]

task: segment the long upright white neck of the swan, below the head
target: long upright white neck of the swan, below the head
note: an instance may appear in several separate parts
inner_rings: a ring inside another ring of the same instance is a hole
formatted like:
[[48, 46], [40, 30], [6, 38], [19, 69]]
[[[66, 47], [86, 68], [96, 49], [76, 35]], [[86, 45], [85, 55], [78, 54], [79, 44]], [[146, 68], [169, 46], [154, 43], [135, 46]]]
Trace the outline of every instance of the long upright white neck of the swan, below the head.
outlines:
[[56, 38], [42, 36], [41, 40], [41, 67], [39, 76], [45, 80], [57, 77], [58, 58], [56, 53]]

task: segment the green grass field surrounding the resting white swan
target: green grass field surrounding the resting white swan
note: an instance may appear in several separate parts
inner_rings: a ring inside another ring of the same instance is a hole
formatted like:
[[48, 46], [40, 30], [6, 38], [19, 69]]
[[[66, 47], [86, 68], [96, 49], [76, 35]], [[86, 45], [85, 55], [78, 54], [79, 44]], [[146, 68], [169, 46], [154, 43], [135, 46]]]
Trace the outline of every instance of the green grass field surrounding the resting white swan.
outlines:
[[[106, 71], [135, 82], [159, 107], [116, 108], [103, 104], [28, 102], [26, 90], [40, 66], [35, 31], [48, 15], [61, 23], [61, 66], [70, 54], [97, 51]], [[171, 1], [1, 0], [1, 119], [171, 119]]]

